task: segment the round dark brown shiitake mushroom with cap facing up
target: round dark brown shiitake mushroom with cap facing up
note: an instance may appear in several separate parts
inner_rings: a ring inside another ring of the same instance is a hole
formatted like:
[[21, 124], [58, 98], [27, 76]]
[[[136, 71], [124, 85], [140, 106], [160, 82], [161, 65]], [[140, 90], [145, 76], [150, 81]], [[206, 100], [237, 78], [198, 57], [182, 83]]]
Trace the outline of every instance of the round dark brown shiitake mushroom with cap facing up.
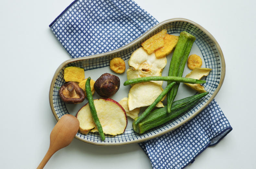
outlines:
[[94, 83], [94, 90], [101, 97], [110, 97], [119, 90], [120, 79], [116, 75], [104, 73]]

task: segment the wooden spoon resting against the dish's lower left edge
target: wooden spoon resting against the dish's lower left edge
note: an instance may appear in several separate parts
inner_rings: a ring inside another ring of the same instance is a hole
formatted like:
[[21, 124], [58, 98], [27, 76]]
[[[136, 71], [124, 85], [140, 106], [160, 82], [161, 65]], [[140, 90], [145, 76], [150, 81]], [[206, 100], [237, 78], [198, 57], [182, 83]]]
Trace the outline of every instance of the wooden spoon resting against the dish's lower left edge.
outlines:
[[56, 151], [68, 146], [76, 136], [78, 129], [79, 121], [75, 116], [71, 114], [62, 116], [52, 129], [50, 147], [37, 169], [43, 168]]

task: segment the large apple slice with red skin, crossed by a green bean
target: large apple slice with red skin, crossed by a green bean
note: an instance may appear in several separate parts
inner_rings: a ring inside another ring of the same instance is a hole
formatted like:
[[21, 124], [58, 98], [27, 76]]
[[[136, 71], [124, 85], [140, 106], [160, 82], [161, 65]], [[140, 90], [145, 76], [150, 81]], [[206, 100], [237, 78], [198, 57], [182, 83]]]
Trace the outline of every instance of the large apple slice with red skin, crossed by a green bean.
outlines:
[[[123, 107], [110, 98], [94, 99], [97, 115], [105, 134], [122, 134], [127, 126], [127, 116]], [[93, 121], [89, 104], [84, 105], [76, 114], [79, 131], [83, 134], [88, 132], [98, 132]]]

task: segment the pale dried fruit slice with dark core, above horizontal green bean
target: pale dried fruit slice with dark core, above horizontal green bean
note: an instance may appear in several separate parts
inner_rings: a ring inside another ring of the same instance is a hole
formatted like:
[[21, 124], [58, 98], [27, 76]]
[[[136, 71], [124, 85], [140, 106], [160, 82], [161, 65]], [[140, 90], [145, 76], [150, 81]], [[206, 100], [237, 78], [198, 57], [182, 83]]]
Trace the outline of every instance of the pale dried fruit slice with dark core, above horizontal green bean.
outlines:
[[[162, 71], [167, 64], [166, 57], [156, 58], [155, 52], [148, 54], [143, 48], [135, 50], [128, 61], [127, 79], [135, 79], [149, 76], [162, 76]], [[152, 81], [160, 86], [163, 81]]]

